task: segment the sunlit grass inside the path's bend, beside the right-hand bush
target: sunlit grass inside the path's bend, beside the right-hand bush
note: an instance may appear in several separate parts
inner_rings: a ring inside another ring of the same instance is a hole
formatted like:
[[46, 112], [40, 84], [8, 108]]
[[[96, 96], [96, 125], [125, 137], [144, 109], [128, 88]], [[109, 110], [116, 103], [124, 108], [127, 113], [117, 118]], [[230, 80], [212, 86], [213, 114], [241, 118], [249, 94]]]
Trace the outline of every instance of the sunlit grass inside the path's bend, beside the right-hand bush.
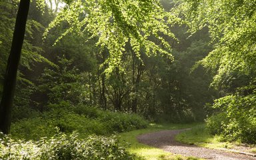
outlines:
[[[241, 145], [239, 142], [227, 142], [223, 141], [219, 135], [210, 135], [206, 129], [205, 124], [198, 124], [192, 127], [191, 130], [180, 133], [175, 137], [177, 141], [186, 144], [194, 144], [201, 147], [213, 148], [213, 149], [235, 149], [237, 146]], [[256, 147], [247, 150], [249, 152], [256, 151]]]

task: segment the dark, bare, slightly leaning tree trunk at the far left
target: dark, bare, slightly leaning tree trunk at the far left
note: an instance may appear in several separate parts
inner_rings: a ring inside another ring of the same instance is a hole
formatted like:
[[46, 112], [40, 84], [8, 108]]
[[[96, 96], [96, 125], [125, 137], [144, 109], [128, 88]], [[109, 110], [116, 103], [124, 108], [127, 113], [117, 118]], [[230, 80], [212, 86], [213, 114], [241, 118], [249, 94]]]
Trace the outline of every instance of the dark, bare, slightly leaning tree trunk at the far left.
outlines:
[[30, 0], [21, 0], [17, 13], [15, 29], [13, 32], [13, 42], [11, 52], [5, 71], [5, 81], [3, 83], [3, 95], [0, 104], [0, 131], [8, 134], [11, 126], [11, 109], [16, 85], [19, 59], [21, 58], [21, 48], [25, 35], [27, 14], [29, 13]]

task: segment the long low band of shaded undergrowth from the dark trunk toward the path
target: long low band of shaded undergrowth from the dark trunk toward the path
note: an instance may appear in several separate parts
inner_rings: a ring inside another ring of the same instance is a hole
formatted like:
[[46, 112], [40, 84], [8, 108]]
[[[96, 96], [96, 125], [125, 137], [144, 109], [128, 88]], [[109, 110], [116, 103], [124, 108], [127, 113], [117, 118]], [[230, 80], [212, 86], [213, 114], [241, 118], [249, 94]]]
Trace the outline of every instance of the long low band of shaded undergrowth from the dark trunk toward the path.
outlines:
[[135, 114], [113, 113], [82, 105], [74, 107], [65, 103], [51, 104], [50, 107], [51, 111], [43, 113], [41, 117], [13, 123], [11, 135], [19, 139], [39, 140], [40, 137], [52, 137], [57, 129], [64, 133], [77, 131], [87, 137], [147, 127], [147, 121]]

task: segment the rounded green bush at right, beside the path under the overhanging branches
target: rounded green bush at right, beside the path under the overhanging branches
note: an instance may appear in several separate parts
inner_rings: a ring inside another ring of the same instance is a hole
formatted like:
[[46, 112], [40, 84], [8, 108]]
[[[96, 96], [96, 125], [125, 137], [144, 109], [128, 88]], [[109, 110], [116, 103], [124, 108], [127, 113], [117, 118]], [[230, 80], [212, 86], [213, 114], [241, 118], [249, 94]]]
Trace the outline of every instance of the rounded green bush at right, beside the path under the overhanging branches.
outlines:
[[256, 95], [229, 95], [213, 107], [221, 113], [207, 119], [207, 129], [229, 141], [256, 143]]

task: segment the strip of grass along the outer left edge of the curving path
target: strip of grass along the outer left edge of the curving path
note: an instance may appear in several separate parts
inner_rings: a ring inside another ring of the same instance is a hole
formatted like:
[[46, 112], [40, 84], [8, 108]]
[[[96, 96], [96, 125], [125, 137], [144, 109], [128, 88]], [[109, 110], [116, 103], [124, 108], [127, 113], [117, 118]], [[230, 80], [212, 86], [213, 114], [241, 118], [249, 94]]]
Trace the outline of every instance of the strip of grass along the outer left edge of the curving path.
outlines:
[[169, 129], [185, 129], [191, 128], [198, 123], [191, 124], [151, 124], [147, 129], [139, 129], [135, 131], [130, 131], [127, 133], [120, 133], [119, 136], [121, 140], [126, 143], [131, 144], [129, 151], [139, 156], [140, 160], [197, 160], [195, 157], [182, 157], [181, 155], [173, 155], [162, 149], [157, 149], [155, 147], [150, 147], [148, 145], [143, 145], [137, 142], [136, 137], [143, 133], [151, 133], [155, 131], [169, 130]]

